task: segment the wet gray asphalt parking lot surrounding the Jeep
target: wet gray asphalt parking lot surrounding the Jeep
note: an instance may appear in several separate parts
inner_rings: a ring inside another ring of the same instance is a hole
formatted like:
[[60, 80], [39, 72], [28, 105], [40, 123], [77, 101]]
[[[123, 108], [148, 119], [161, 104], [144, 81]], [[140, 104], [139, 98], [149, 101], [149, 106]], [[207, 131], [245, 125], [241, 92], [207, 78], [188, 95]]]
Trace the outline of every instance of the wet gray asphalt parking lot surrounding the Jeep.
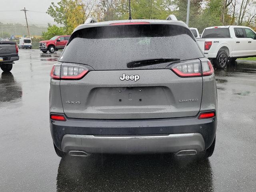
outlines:
[[0, 72], [0, 192], [256, 191], [256, 62], [215, 70], [216, 147], [209, 160], [170, 155], [59, 158], [49, 128], [50, 70], [57, 54], [20, 50]]

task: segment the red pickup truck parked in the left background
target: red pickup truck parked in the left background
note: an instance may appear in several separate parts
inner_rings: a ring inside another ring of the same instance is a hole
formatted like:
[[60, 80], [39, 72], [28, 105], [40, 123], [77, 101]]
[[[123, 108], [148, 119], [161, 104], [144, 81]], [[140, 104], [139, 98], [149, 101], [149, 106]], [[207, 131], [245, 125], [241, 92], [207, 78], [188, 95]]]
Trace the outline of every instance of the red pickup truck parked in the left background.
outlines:
[[64, 49], [69, 38], [70, 38], [70, 35], [62, 35], [62, 36], [54, 36], [50, 40], [40, 41], [39, 49], [44, 53], [46, 53], [47, 51], [49, 51], [50, 53], [54, 53], [59, 49]]

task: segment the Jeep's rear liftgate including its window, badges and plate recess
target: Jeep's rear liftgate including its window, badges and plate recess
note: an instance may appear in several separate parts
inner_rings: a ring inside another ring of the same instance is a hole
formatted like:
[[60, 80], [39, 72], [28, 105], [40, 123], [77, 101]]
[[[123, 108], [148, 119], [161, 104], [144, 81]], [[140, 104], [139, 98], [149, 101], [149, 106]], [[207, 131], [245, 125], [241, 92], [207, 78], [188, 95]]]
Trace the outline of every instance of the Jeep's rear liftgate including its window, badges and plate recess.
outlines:
[[[195, 116], [200, 110], [202, 77], [182, 78], [177, 62], [203, 57], [183, 26], [125, 25], [80, 30], [60, 57], [62, 67], [82, 65], [79, 80], [60, 80], [64, 113], [70, 118], [139, 119]], [[174, 62], [136, 62], [173, 58]], [[149, 59], [150, 60], [150, 59]], [[186, 67], [189, 67], [189, 66]]]

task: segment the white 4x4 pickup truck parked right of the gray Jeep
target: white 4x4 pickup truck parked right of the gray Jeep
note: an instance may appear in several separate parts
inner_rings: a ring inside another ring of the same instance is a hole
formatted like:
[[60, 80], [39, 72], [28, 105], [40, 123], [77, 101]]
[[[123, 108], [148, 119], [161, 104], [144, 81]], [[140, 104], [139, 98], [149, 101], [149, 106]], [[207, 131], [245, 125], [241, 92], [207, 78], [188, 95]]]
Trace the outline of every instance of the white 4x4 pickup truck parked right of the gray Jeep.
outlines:
[[256, 56], [256, 33], [250, 27], [208, 27], [196, 40], [218, 69], [224, 69], [228, 60], [234, 62], [237, 58]]

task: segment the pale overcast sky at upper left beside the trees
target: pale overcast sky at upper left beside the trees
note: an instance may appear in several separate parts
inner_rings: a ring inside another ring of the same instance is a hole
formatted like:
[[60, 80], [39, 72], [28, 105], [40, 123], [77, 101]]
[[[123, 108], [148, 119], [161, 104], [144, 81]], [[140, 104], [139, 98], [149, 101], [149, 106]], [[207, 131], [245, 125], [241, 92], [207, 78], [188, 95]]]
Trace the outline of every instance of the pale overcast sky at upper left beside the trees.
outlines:
[[[60, 0], [0, 0], [0, 22], [25, 24], [25, 14], [21, 9], [26, 7], [28, 24], [54, 24], [54, 20], [46, 14], [51, 2]], [[32, 12], [34, 11], [34, 12]]]

